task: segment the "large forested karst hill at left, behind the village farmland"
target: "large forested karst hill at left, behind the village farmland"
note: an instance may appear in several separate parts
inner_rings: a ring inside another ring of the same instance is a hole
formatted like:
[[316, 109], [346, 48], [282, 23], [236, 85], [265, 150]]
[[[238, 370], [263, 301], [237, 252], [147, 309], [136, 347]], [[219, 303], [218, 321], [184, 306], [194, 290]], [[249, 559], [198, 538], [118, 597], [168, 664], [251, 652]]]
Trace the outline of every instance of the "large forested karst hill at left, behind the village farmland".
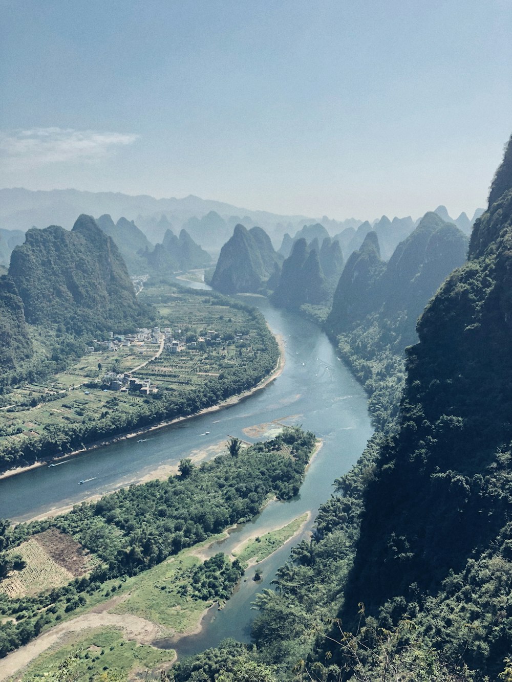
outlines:
[[29, 230], [12, 252], [9, 276], [33, 325], [121, 331], [147, 319], [117, 246], [90, 216], [80, 216], [70, 232], [55, 225]]

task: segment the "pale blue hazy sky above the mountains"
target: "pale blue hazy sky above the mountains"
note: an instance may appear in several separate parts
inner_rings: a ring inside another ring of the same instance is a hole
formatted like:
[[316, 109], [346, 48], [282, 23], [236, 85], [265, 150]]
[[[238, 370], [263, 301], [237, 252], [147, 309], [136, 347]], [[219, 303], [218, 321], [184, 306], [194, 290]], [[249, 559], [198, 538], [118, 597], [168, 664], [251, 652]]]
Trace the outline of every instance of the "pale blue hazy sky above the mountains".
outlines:
[[512, 132], [512, 0], [0, 11], [0, 187], [471, 217]]

